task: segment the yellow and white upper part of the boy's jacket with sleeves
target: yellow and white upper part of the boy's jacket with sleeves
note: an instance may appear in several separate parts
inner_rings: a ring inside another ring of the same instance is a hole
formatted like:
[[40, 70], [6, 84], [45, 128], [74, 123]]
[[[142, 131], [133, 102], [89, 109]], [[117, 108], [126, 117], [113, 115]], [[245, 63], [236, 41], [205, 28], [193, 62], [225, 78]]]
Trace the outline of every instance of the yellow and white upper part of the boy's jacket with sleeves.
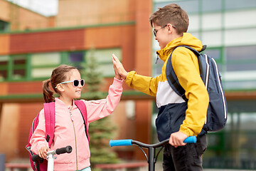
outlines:
[[[164, 66], [161, 69], [161, 75], [156, 78], [140, 76], [135, 71], [128, 73], [125, 83], [131, 88], [139, 90], [148, 95], [156, 96], [156, 105], [158, 108], [170, 103], [184, 103], [181, 96], [172, 90], [166, 78], [166, 63], [171, 52], [176, 46], [191, 46], [191, 48], [201, 51], [202, 43], [190, 33], [183, 33], [182, 37], [176, 38], [166, 45], [165, 48], [157, 51]], [[208, 92], [201, 80], [197, 56], [188, 48], [177, 48], [171, 57], [171, 63], [179, 83], [186, 90], [188, 99], [188, 109], [186, 118], [181, 124], [180, 131], [188, 136], [201, 133], [203, 124], [206, 120], [206, 113], [209, 103]]]

